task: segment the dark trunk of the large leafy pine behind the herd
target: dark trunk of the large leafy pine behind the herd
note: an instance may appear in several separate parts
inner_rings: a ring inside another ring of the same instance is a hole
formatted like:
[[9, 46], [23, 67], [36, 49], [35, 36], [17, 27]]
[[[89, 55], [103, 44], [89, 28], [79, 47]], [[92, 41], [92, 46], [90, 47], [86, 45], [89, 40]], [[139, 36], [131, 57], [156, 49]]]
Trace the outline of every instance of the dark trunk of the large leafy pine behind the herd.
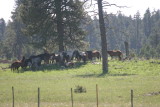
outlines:
[[59, 52], [64, 51], [64, 26], [63, 16], [61, 11], [62, 0], [56, 0], [56, 15], [57, 15], [57, 32], [58, 32], [58, 45]]

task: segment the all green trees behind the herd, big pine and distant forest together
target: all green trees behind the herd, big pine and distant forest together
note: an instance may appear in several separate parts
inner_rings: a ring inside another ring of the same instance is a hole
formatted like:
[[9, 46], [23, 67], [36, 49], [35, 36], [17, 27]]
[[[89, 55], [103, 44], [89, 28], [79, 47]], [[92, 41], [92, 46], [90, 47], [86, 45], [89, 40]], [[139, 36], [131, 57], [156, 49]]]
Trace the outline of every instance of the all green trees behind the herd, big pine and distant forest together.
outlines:
[[[19, 59], [21, 55], [41, 53], [43, 48], [50, 52], [77, 47], [83, 51], [101, 50], [99, 19], [86, 14], [83, 2], [17, 0], [16, 3], [12, 21], [6, 24], [0, 19], [1, 57]], [[104, 16], [108, 50], [125, 52], [127, 41], [131, 54], [160, 57], [160, 10], [146, 9], [144, 15], [137, 12], [135, 17], [107, 12]]]

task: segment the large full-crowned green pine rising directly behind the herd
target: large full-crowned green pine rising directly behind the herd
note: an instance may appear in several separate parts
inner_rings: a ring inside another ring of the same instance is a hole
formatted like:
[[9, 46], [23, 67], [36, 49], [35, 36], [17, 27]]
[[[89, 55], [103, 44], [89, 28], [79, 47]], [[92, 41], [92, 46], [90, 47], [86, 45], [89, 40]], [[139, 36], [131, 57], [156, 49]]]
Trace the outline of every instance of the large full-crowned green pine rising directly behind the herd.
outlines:
[[20, 6], [27, 33], [40, 38], [39, 43], [52, 40], [59, 51], [83, 44], [80, 25], [85, 12], [80, 0], [21, 0]]

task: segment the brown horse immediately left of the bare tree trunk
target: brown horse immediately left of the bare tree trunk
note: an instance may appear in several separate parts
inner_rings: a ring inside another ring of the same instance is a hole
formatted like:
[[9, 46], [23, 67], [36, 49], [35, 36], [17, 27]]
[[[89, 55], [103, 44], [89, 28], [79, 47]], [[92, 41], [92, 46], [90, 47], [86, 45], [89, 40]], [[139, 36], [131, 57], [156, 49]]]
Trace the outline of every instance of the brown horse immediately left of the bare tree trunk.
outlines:
[[87, 54], [89, 60], [92, 60], [94, 57], [96, 57], [97, 59], [101, 60], [101, 54], [97, 50], [86, 51], [86, 54]]

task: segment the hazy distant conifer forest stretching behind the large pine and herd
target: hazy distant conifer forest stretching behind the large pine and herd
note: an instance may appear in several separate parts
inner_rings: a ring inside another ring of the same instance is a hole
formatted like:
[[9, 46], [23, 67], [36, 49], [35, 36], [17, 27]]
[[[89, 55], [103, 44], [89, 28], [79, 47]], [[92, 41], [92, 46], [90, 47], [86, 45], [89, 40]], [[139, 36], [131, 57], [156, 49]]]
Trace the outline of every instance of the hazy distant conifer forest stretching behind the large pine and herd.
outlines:
[[[24, 12], [22, 4], [21, 0], [17, 0], [16, 9], [12, 12], [12, 21], [6, 24], [3, 18], [0, 19], [0, 57], [21, 59], [22, 55], [30, 56], [42, 53], [44, 49], [50, 53], [58, 52], [57, 40], [53, 36], [56, 35], [56, 29], [55, 32], [52, 32], [53, 29], [49, 29], [47, 33], [42, 31], [44, 28], [37, 30], [37, 32], [39, 31], [38, 33], [26, 31], [28, 30], [26, 29], [28, 23], [24, 23], [26, 21], [22, 14]], [[84, 8], [82, 8], [81, 12], [83, 12], [83, 20], [78, 20], [80, 24], [77, 26], [79, 26], [80, 31], [77, 30], [77, 35], [83, 36], [75, 39], [77, 42], [68, 39], [64, 44], [64, 49], [100, 51], [101, 39], [98, 17], [89, 15]], [[104, 12], [104, 16], [108, 50], [121, 50], [125, 53], [124, 42], [128, 42], [131, 56], [160, 57], [160, 10], [150, 11], [148, 8], [143, 16], [140, 16], [140, 13], [137, 12], [134, 17], [125, 16], [121, 12], [118, 14], [107, 14], [107, 12]], [[75, 22], [70, 23], [66, 21], [66, 23], [73, 26], [72, 23]], [[47, 23], [46, 25], [49, 26], [49, 24]], [[52, 26], [55, 28], [54, 26], [56, 25], [53, 24]], [[69, 36], [68, 33], [66, 38], [69, 38]]]

